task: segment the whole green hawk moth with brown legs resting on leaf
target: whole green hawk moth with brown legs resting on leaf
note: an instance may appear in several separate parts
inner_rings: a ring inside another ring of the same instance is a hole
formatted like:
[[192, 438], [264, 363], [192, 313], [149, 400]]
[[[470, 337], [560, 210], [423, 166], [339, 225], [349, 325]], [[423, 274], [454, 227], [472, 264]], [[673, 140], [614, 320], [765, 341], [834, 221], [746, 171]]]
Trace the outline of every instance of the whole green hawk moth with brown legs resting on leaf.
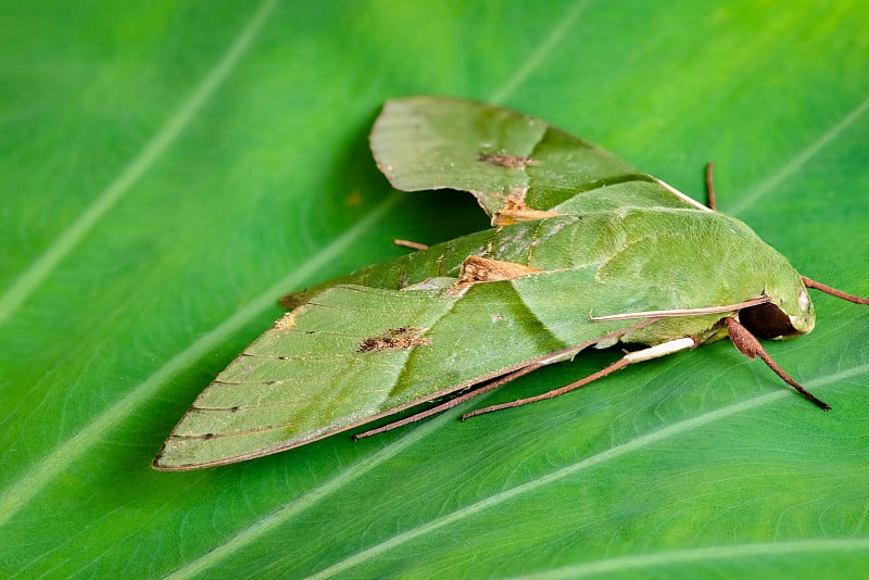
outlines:
[[364, 434], [379, 432], [616, 343], [638, 346], [576, 383], [467, 415], [721, 338], [829, 408], [755, 337], [810, 332], [807, 287], [869, 301], [801, 276], [742, 222], [542, 121], [482, 103], [390, 101], [370, 141], [395, 188], [469, 191], [493, 228], [281, 299], [289, 312], [199, 395], [156, 469], [250, 459], [464, 393]]

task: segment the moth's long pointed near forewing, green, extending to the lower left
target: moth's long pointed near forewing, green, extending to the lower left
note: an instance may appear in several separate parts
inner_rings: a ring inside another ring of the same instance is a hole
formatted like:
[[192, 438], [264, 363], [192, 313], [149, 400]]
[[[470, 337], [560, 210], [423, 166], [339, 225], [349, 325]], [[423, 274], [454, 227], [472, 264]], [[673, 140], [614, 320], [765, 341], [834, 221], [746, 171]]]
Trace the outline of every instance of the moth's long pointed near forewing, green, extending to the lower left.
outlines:
[[285, 315], [221, 373], [154, 467], [223, 465], [302, 445], [565, 345], [509, 282], [473, 285], [461, 297], [336, 286]]

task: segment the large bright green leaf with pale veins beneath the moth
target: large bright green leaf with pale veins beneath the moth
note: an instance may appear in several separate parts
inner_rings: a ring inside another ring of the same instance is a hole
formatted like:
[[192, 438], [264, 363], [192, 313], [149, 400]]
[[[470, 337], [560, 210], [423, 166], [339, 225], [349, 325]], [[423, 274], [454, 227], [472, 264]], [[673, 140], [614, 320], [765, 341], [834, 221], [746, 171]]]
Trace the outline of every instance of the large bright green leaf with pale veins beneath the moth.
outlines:
[[[854, 576], [869, 565], [869, 313], [816, 297], [768, 345], [821, 413], [718, 343], [563, 398], [455, 409], [185, 474], [150, 461], [275, 301], [487, 227], [392, 192], [388, 99], [521, 110], [869, 294], [861, 3], [7, 3], [0, 31], [3, 576]], [[590, 353], [489, 396], [541, 392]]]

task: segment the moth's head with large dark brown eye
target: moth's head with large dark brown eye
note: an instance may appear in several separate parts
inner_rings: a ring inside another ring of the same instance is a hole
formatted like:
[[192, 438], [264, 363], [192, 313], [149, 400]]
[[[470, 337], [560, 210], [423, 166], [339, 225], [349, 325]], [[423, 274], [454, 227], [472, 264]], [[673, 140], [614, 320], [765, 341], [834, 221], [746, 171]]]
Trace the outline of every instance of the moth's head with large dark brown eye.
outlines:
[[811, 332], [815, 308], [802, 280], [797, 279], [786, 291], [767, 295], [769, 302], [740, 311], [740, 323], [755, 337], [774, 340]]

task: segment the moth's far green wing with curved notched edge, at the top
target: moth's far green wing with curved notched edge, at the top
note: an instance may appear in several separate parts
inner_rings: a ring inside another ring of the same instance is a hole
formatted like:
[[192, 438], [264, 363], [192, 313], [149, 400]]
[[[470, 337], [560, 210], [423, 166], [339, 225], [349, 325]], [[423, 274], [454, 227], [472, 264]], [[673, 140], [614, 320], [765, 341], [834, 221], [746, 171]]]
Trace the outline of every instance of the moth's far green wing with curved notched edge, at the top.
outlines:
[[702, 207], [588, 141], [475, 101], [388, 101], [370, 142], [393, 187], [469, 191], [494, 225], [626, 205]]

